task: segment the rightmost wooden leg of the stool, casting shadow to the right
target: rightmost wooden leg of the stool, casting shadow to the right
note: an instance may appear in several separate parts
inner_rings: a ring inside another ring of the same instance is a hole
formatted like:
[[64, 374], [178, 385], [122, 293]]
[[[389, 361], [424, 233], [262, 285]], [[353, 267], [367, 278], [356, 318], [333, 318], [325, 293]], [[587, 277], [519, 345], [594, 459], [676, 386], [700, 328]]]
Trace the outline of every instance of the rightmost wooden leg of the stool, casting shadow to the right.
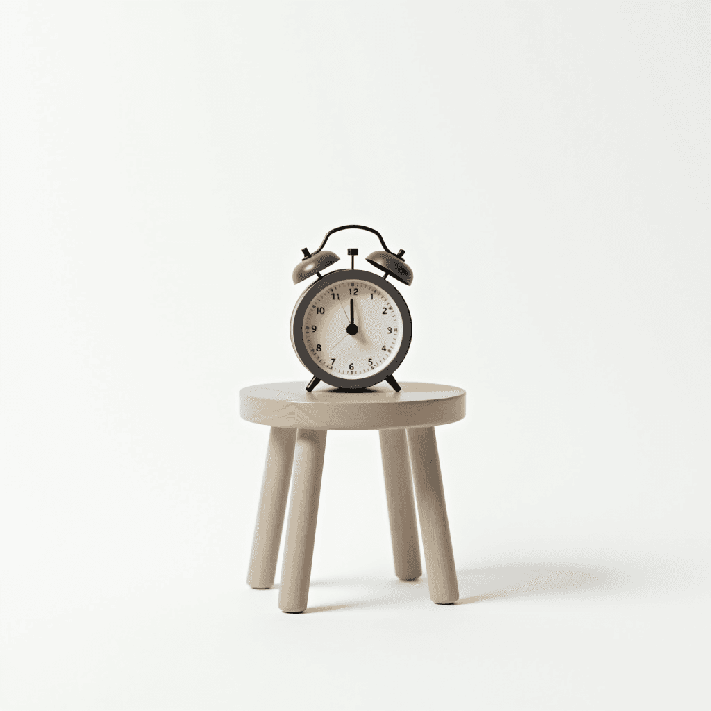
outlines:
[[407, 447], [410, 450], [412, 479], [415, 481], [429, 597], [437, 604], [451, 604], [459, 599], [459, 587], [456, 584], [434, 427], [408, 429]]

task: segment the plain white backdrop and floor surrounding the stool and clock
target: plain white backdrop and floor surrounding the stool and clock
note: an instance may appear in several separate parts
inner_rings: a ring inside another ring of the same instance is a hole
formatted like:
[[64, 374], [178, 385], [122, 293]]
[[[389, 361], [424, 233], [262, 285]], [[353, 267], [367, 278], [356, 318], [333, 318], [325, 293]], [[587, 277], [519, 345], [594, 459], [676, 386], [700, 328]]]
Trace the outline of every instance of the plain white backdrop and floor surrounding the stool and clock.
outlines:
[[[707, 708], [709, 23], [4, 6], [0, 705]], [[397, 377], [467, 390], [456, 606], [394, 578], [375, 432], [328, 435], [308, 614], [244, 582], [237, 391], [309, 378], [291, 272], [346, 223], [415, 272]]]

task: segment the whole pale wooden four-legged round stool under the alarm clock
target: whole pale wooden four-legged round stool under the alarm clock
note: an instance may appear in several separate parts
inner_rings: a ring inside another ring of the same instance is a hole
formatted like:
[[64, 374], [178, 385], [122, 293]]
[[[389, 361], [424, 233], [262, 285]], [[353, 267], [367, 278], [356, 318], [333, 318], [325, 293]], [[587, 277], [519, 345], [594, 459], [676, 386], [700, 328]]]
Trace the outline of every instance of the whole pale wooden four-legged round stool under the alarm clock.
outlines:
[[401, 385], [400, 392], [387, 385], [376, 385], [369, 392], [306, 392], [305, 383], [270, 383], [240, 390], [240, 416], [272, 427], [247, 577], [255, 589], [274, 583], [296, 451], [279, 589], [279, 608], [284, 612], [303, 612], [309, 599], [328, 429], [380, 430], [395, 574], [401, 580], [422, 574], [414, 479], [429, 597], [443, 605], [459, 599], [434, 427], [464, 417], [465, 392], [432, 383]]

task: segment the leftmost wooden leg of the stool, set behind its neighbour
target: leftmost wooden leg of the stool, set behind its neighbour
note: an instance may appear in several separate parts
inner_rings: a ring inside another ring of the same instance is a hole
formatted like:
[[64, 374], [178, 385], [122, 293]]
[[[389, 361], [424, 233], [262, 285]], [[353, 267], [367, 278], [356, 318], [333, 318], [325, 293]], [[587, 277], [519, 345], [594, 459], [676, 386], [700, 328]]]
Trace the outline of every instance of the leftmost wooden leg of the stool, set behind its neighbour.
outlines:
[[252, 541], [250, 571], [247, 574], [247, 584], [256, 589], [265, 589], [274, 584], [289, 496], [289, 479], [292, 478], [295, 441], [296, 429], [272, 427], [269, 432], [260, 508]]

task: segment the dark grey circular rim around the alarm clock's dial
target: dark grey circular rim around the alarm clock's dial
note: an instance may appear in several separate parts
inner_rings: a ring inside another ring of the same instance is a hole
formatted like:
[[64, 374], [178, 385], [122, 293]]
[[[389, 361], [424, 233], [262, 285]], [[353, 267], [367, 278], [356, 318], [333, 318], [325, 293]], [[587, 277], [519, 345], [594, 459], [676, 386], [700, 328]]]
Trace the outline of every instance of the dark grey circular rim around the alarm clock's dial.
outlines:
[[[400, 348], [395, 354], [395, 358], [392, 358], [392, 362], [385, 365], [383, 370], [379, 370], [378, 373], [373, 375], [367, 375], [363, 378], [351, 378], [346, 380], [346, 378], [338, 378], [338, 375], [333, 375], [333, 373], [328, 370], [324, 370], [317, 365], [311, 358], [309, 349], [306, 348], [306, 343], [304, 343], [304, 316], [306, 316], [306, 309], [309, 308], [311, 300], [314, 299], [316, 294], [329, 287], [331, 284], [336, 282], [348, 281], [348, 279], [353, 279], [354, 282], [368, 282], [373, 284], [377, 289], [382, 289], [390, 299], [395, 302], [395, 305], [400, 309], [400, 316], [402, 317], [402, 341], [400, 342]], [[298, 332], [296, 331], [296, 324], [298, 326]], [[383, 380], [388, 378], [392, 373], [395, 373], [397, 368], [400, 368], [402, 361], [405, 360], [407, 351], [410, 350], [410, 343], [412, 343], [412, 316], [410, 316], [410, 309], [407, 308], [407, 303], [405, 299], [402, 298], [402, 294], [397, 291], [394, 284], [391, 284], [383, 277], [378, 276], [374, 272], [367, 272], [365, 269], [336, 269], [333, 272], [328, 272], [324, 274], [321, 279], [318, 279], [313, 284], [309, 284], [304, 292], [299, 296], [296, 301], [296, 306], [294, 306], [294, 311], [292, 311], [292, 322], [289, 328], [292, 336], [292, 346], [294, 348], [294, 353], [301, 361], [301, 365], [319, 378], [323, 380], [324, 383], [328, 385], [333, 385], [333, 387], [341, 387], [344, 390], [358, 390], [363, 387], [370, 387], [371, 385], [377, 385], [382, 383]]]

